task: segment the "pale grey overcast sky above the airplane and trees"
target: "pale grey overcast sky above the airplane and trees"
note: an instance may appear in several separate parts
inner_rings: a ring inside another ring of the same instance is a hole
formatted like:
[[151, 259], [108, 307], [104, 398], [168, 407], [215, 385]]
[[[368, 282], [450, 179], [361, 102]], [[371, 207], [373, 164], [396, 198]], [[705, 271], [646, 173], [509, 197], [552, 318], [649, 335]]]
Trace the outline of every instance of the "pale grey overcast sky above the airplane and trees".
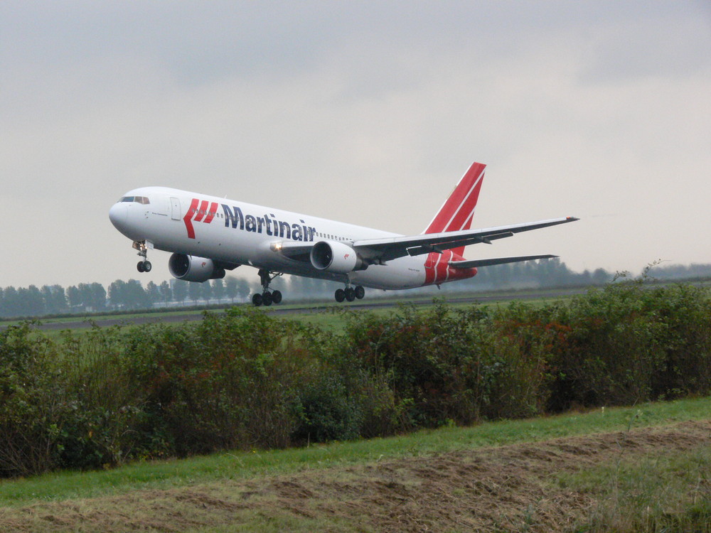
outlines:
[[4, 0], [0, 87], [0, 286], [169, 279], [139, 186], [413, 235], [472, 161], [473, 227], [582, 220], [469, 259], [711, 263], [706, 0]]

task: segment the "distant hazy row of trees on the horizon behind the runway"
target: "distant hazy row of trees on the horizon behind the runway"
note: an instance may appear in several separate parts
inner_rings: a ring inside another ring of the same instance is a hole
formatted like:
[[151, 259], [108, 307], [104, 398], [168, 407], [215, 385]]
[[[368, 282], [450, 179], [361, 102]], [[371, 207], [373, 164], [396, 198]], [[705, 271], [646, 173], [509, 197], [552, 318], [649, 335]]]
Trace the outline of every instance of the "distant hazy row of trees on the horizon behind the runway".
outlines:
[[[700, 279], [711, 277], [711, 264], [689, 266], [655, 264], [648, 273], [658, 279]], [[614, 278], [604, 269], [575, 272], [560, 259], [486, 266], [474, 278], [442, 285], [442, 291], [476, 292], [493, 289], [522, 289], [565, 286], [602, 286]], [[0, 288], [0, 317], [48, 316], [64, 313], [87, 313], [135, 310], [170, 305], [198, 305], [198, 303], [245, 301], [250, 294], [261, 291], [257, 276], [251, 283], [228, 276], [210, 282], [188, 283], [179, 279], [145, 286], [136, 279], [117, 280], [107, 288], [99, 283], [82, 283], [66, 289], [60, 285], [35, 285]], [[289, 295], [289, 300], [332, 298], [342, 284], [333, 281], [284, 276], [274, 280], [273, 289]], [[414, 289], [409, 294], [431, 294], [432, 287]], [[369, 291], [370, 296], [383, 291]]]

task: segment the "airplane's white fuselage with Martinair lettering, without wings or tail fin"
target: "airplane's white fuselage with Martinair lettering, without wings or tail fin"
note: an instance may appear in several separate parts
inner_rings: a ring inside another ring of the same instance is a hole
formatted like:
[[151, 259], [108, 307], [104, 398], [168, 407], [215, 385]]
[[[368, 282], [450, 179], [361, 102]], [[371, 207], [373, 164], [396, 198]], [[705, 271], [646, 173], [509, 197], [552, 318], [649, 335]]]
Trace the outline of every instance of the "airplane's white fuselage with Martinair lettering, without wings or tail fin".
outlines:
[[[130, 201], [139, 198], [141, 201]], [[400, 257], [348, 274], [315, 269], [310, 262], [275, 253], [279, 243], [353, 242], [400, 235], [335, 220], [267, 208], [165, 187], [129, 191], [109, 212], [114, 226], [134, 242], [228, 264], [334, 281], [374, 289], [411, 289], [451, 281], [427, 254]], [[431, 269], [428, 273], [427, 269]], [[473, 275], [473, 274], [472, 274]], [[469, 277], [469, 276], [466, 276]]]

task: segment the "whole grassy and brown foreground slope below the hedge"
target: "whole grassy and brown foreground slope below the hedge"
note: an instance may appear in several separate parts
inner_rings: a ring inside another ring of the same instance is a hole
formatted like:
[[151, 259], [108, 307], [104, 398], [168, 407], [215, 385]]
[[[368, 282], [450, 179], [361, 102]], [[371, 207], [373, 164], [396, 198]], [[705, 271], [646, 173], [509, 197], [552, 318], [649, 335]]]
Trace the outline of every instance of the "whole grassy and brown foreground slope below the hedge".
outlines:
[[710, 416], [688, 399], [5, 480], [0, 530], [709, 532]]

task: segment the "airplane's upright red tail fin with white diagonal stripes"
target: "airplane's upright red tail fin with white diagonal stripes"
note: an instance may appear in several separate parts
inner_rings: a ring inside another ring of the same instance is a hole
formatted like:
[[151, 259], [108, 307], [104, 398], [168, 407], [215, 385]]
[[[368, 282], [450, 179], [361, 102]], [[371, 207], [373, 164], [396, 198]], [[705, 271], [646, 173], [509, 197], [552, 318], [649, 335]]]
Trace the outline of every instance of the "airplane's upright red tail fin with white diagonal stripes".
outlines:
[[[424, 233], [454, 232], [471, 228], [471, 218], [474, 216], [476, 200], [479, 200], [484, 168], [486, 165], [482, 163], [472, 163], [447, 201], [439, 208], [437, 215], [434, 215], [432, 222], [429, 222]], [[464, 248], [453, 249], [452, 252], [461, 255]]]

